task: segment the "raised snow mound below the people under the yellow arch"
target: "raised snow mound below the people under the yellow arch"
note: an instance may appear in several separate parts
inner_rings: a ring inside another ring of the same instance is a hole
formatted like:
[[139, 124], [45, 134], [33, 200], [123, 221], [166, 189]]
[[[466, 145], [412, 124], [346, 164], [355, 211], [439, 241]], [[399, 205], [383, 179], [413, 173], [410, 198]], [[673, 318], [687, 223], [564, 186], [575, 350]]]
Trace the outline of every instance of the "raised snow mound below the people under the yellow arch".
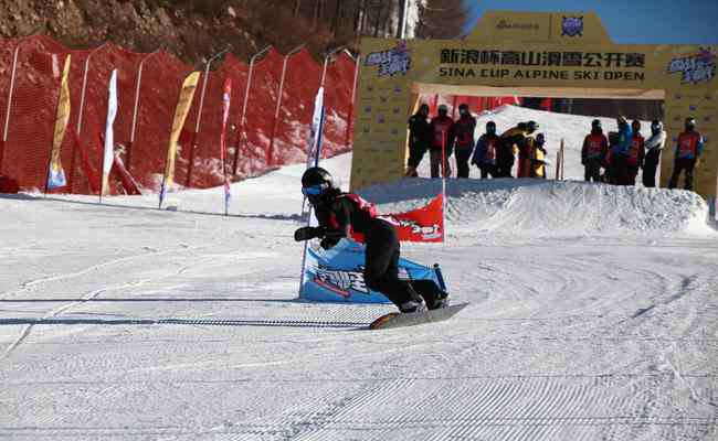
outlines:
[[[440, 180], [414, 179], [362, 195], [388, 213], [423, 205], [440, 192]], [[577, 181], [448, 180], [446, 219], [457, 235], [715, 234], [696, 193]]]

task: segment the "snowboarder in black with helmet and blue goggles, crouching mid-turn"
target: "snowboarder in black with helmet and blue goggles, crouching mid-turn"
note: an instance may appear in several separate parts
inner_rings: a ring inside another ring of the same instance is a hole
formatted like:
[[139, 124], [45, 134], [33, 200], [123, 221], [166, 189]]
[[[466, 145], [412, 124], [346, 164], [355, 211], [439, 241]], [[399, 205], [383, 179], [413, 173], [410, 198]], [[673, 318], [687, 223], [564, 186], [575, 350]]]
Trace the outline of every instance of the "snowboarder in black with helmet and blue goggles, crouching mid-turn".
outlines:
[[423, 312], [448, 305], [448, 293], [432, 280], [399, 279], [400, 246], [391, 222], [377, 215], [376, 207], [353, 193], [334, 185], [331, 174], [314, 166], [302, 176], [302, 193], [309, 200], [318, 227], [302, 227], [294, 239], [320, 238], [324, 249], [335, 247], [350, 232], [361, 233], [366, 244], [365, 283], [383, 293], [401, 312]]

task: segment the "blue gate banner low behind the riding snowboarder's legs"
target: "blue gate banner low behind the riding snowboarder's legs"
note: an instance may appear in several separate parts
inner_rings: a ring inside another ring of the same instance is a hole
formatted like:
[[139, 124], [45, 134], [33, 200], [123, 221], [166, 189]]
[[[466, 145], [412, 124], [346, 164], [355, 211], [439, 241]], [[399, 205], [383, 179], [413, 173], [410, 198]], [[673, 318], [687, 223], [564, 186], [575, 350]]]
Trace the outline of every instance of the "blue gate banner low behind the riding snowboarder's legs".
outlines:
[[[363, 278], [365, 246], [342, 239], [330, 250], [308, 248], [299, 298], [319, 302], [390, 303], [383, 294], [367, 288]], [[436, 272], [406, 259], [399, 260], [399, 278], [433, 280]]]

